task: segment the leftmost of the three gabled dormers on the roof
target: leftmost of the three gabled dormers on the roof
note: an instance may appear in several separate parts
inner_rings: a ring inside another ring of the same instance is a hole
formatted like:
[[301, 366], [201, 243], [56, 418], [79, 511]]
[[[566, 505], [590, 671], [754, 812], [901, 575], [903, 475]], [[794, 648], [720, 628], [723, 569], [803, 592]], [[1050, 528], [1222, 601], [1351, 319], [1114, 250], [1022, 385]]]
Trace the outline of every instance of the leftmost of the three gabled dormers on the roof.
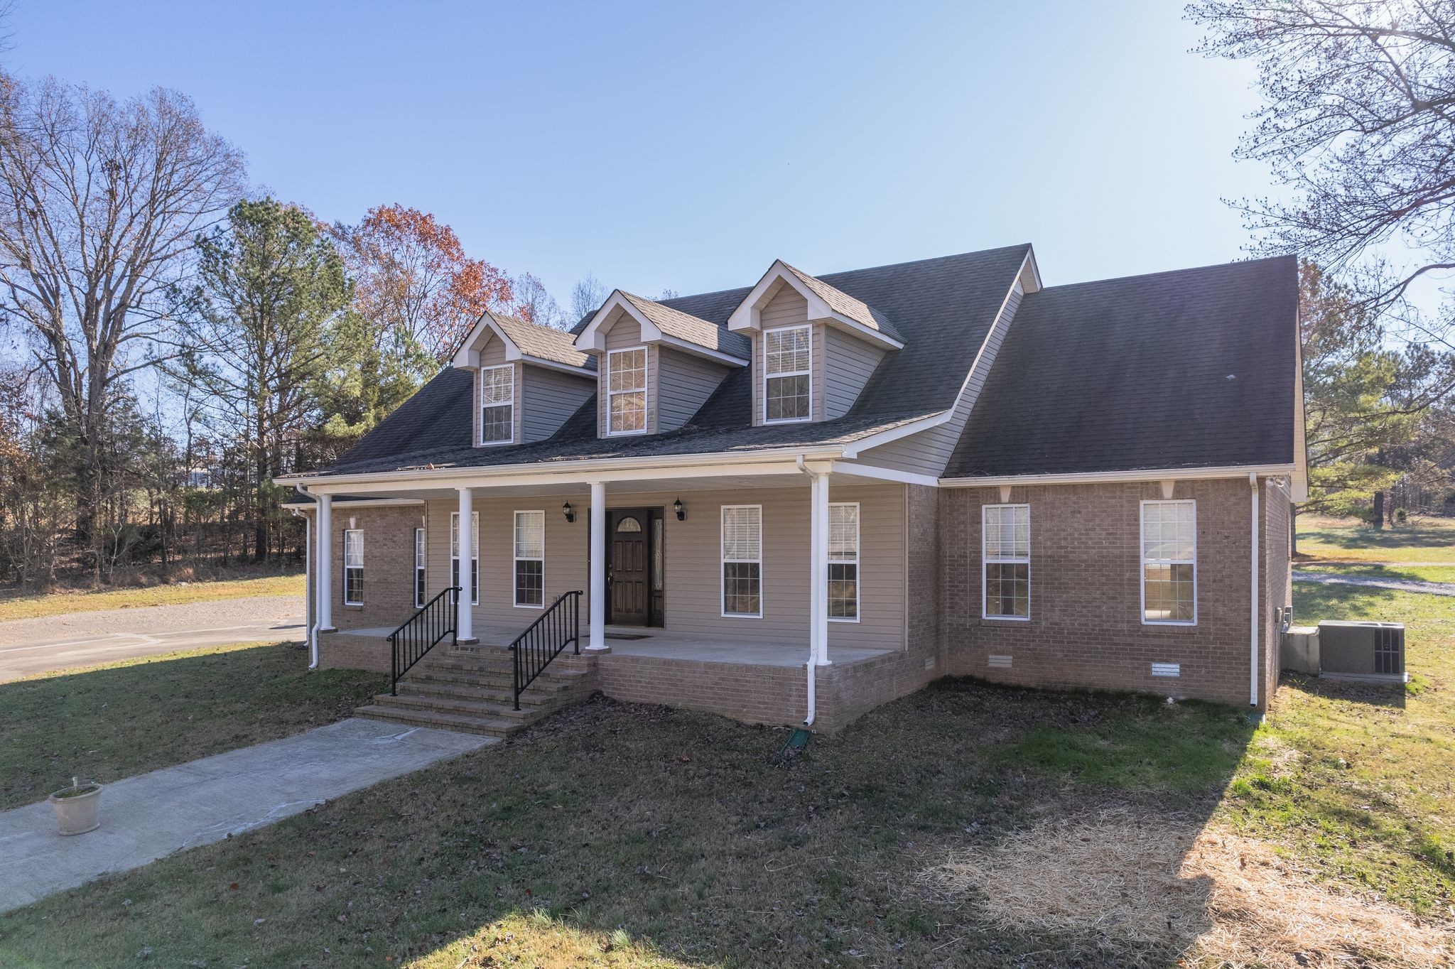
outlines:
[[544, 441], [597, 391], [570, 333], [503, 313], [486, 311], [453, 362], [474, 371], [474, 447]]

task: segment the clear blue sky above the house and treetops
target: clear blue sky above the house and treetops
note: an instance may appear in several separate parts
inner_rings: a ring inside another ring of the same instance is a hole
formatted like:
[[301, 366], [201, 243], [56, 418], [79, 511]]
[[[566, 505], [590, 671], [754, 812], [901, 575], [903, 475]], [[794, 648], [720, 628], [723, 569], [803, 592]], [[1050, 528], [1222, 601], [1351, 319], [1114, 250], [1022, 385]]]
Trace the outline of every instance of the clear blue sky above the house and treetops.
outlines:
[[1225, 262], [1247, 64], [1180, 3], [54, 3], [23, 76], [191, 95], [256, 185], [403, 202], [565, 306], [1032, 242], [1048, 284]]

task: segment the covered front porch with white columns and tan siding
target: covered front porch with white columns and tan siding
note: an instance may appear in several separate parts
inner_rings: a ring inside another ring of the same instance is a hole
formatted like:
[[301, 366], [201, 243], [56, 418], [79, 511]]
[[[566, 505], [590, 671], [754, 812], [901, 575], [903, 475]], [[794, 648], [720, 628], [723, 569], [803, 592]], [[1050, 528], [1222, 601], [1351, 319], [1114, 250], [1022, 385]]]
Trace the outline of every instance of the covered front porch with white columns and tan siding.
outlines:
[[388, 671], [386, 637], [439, 595], [435, 653], [485, 656], [537, 620], [563, 639], [551, 607], [575, 591], [581, 652], [553, 662], [623, 700], [799, 723], [824, 685], [922, 661], [906, 482], [800, 460], [429, 477], [310, 484], [322, 665]]

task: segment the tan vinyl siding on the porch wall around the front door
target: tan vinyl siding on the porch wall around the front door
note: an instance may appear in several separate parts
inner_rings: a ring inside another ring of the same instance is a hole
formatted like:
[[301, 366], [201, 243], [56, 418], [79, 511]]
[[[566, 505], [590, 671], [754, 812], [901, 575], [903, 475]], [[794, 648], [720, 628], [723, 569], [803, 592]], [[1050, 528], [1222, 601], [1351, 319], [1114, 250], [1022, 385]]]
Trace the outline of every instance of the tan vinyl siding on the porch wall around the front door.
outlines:
[[[672, 515], [681, 498], [687, 521]], [[560, 511], [569, 501], [576, 521]], [[905, 487], [901, 484], [834, 487], [834, 502], [860, 502], [860, 621], [829, 623], [831, 645], [892, 646], [905, 643]], [[479, 623], [525, 629], [538, 611], [515, 608], [511, 524], [514, 512], [546, 511], [546, 602], [570, 589], [589, 591], [586, 554], [589, 527], [586, 489], [579, 495], [492, 498], [477, 490], [480, 512]], [[762, 505], [762, 618], [722, 615], [720, 515], [723, 505]], [[429, 595], [450, 578], [450, 512], [454, 499], [431, 501]], [[665, 627], [674, 633], [742, 636], [802, 645], [809, 629], [809, 487], [610, 493], [608, 508], [663, 508]], [[589, 595], [588, 595], [589, 598]], [[589, 615], [582, 602], [582, 624]]]

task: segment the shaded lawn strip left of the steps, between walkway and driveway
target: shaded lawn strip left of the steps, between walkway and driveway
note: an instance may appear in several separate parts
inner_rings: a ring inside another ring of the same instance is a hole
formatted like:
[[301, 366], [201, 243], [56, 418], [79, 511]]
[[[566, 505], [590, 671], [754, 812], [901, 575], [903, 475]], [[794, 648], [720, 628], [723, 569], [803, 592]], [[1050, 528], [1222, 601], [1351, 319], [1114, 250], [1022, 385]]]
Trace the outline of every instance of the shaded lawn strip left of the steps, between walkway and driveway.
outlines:
[[386, 682], [307, 662], [243, 643], [0, 684], [0, 809], [332, 723]]

